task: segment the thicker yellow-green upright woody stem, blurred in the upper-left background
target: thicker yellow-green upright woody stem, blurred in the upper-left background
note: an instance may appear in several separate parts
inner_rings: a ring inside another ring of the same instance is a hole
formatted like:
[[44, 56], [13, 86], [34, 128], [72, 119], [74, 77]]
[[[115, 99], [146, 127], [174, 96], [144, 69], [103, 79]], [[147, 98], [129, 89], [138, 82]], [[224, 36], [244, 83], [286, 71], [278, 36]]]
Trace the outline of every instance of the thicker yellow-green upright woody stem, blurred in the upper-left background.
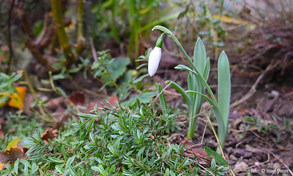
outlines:
[[64, 54], [66, 56], [66, 63], [65, 66], [70, 66], [71, 63], [74, 63], [76, 58], [74, 57], [69, 42], [68, 38], [66, 36], [65, 32], [65, 25], [63, 22], [63, 16], [61, 13], [61, 3], [59, 0], [50, 0], [51, 1], [51, 7], [52, 7], [52, 13], [54, 17], [54, 21], [56, 24], [56, 31], [57, 31], [57, 36], [59, 39], [60, 45], [63, 47]]

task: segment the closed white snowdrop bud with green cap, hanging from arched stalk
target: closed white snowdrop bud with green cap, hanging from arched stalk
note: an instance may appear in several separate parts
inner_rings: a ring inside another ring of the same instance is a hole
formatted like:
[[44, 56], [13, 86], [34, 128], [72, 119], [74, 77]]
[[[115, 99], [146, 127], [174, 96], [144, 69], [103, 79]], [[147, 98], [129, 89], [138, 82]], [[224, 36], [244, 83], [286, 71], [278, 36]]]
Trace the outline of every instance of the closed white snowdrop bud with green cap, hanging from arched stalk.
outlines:
[[162, 44], [163, 44], [163, 39], [161, 36], [157, 40], [156, 47], [149, 54], [148, 71], [149, 71], [149, 76], [151, 77], [154, 76], [154, 74], [156, 73], [158, 69], [159, 62], [162, 56], [162, 53], [161, 53]]

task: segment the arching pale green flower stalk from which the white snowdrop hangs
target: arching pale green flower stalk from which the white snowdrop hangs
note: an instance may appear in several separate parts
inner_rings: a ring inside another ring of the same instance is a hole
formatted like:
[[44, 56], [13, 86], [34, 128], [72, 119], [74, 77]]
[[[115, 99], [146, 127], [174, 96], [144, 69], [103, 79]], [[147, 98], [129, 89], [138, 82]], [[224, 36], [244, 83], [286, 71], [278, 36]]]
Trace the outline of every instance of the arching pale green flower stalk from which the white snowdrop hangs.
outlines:
[[181, 46], [181, 44], [179, 43], [179, 41], [177, 40], [177, 38], [174, 36], [174, 34], [167, 28], [163, 27], [163, 26], [155, 26], [152, 30], [154, 29], [160, 29], [161, 31], [164, 31], [166, 33], [168, 33], [168, 35], [170, 35], [175, 43], [178, 45], [178, 47], [180, 48], [180, 50], [182, 51], [182, 53], [184, 54], [184, 56], [186, 57], [186, 59], [188, 60], [188, 62], [190, 63], [190, 65], [192, 66], [192, 68], [196, 71], [198, 77], [200, 78], [200, 80], [205, 84], [205, 87], [207, 88], [209, 94], [211, 95], [213, 102], [215, 103], [216, 107], [219, 109], [219, 105], [217, 103], [216, 97], [214, 96], [211, 88], [208, 86], [208, 83], [205, 81], [205, 79], [203, 78], [203, 76], [200, 74], [199, 70], [196, 68], [196, 66], [194, 65], [194, 63], [192, 62], [192, 60], [190, 59], [190, 57], [188, 56], [188, 54], [185, 52], [185, 50], [183, 49], [183, 47]]

